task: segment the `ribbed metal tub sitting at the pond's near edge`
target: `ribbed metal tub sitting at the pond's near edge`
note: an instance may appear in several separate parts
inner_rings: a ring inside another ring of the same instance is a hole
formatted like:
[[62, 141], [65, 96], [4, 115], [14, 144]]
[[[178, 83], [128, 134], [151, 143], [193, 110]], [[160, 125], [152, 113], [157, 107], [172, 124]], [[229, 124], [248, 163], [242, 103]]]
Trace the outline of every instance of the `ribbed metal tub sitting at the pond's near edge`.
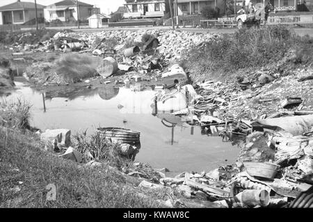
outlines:
[[112, 143], [128, 143], [135, 145], [140, 143], [140, 132], [125, 128], [105, 127], [97, 128], [97, 133], [105, 139], [111, 140]]

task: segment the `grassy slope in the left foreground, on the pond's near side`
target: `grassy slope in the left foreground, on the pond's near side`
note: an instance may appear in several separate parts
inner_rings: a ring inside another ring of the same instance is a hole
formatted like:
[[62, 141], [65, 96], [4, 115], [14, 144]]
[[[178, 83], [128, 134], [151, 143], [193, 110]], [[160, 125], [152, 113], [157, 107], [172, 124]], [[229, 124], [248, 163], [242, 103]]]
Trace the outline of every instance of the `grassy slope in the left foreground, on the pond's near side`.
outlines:
[[[107, 164], [91, 168], [45, 151], [38, 136], [24, 130], [29, 108], [22, 102], [0, 106], [6, 116], [0, 126], [0, 207], [161, 207], [157, 199], [166, 191], [136, 188], [140, 181]], [[56, 185], [56, 200], [47, 200], [48, 184]]]

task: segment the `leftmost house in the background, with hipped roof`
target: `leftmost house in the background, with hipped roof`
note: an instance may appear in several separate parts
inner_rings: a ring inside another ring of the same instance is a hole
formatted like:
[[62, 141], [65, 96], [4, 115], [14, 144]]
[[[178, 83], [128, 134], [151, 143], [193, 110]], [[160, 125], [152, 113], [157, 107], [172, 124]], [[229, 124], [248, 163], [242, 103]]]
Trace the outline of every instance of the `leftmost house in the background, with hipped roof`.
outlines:
[[[37, 4], [38, 18], [44, 17], [44, 8]], [[35, 19], [35, 3], [17, 0], [6, 6], [0, 7], [0, 25], [3, 24], [24, 24]]]

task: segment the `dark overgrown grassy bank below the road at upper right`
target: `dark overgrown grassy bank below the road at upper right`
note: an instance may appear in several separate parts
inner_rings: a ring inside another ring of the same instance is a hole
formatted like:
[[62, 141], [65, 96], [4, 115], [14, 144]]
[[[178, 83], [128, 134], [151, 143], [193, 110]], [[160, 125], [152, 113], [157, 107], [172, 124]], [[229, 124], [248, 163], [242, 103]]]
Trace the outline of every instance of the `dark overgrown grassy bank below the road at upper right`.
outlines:
[[184, 51], [183, 63], [194, 77], [230, 77], [237, 70], [262, 68], [287, 58], [292, 65], [312, 63], [313, 38], [300, 37], [286, 26], [241, 29], [217, 42]]

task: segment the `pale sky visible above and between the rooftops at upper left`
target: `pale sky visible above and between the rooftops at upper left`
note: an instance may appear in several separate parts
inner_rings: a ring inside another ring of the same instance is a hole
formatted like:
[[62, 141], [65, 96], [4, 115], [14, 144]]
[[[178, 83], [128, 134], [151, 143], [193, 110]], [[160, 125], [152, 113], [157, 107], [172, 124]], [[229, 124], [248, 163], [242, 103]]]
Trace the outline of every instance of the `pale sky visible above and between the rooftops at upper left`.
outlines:
[[[10, 3], [14, 3], [16, 0], [0, 0], [0, 7], [8, 5]], [[21, 1], [28, 1], [28, 2], [35, 2], [35, 0], [21, 0]], [[44, 6], [48, 6], [52, 3], [56, 3], [58, 1], [63, 0], [37, 0], [38, 4], [42, 4]], [[123, 6], [125, 0], [79, 0], [84, 3], [95, 5], [98, 8], [101, 8], [101, 13], [108, 14], [109, 11], [115, 12], [119, 6]]]

